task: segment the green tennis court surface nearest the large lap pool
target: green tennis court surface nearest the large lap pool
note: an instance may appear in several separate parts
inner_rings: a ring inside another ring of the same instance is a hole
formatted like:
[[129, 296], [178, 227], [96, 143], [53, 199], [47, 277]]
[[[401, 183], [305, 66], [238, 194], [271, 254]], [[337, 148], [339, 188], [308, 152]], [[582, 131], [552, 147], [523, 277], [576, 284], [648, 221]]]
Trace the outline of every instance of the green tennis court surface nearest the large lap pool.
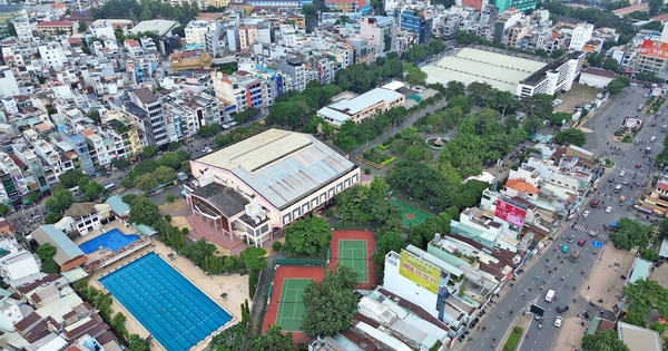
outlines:
[[283, 280], [283, 289], [281, 291], [281, 302], [278, 304], [278, 316], [276, 316], [276, 325], [284, 331], [301, 331], [302, 315], [306, 312], [302, 293], [306, 285], [311, 283], [310, 279], [286, 277]]

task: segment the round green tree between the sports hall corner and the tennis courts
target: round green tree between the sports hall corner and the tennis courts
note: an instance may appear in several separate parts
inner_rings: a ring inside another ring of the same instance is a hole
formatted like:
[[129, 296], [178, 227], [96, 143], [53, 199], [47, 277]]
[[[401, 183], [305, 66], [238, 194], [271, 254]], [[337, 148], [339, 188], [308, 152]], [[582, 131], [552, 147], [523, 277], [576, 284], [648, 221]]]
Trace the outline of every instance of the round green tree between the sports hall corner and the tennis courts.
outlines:
[[285, 228], [285, 250], [297, 256], [324, 257], [332, 243], [330, 223], [321, 217], [306, 217]]

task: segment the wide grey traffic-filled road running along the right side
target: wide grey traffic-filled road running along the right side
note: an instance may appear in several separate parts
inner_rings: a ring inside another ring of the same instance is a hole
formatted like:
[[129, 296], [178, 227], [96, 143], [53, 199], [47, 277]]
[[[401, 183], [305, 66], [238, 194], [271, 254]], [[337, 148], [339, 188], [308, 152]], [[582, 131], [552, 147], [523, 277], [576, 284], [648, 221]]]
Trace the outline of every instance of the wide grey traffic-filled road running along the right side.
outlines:
[[[601, 250], [605, 250], [600, 247], [608, 241], [610, 232], [602, 228], [603, 224], [616, 222], [625, 216], [636, 217], [635, 209], [622, 206], [619, 202], [619, 196], [626, 196], [627, 201], [637, 199], [641, 192], [639, 186], [632, 186], [632, 184], [622, 185], [619, 193], [615, 193], [613, 188], [616, 185], [622, 184], [625, 177], [629, 182], [636, 181], [642, 184], [648, 182], [648, 174], [657, 172], [656, 168], [651, 169], [648, 166], [648, 163], [651, 165], [651, 159], [646, 157], [645, 149], [647, 146], [651, 146], [651, 157], [655, 157], [661, 150], [661, 142], [665, 135], [660, 131], [660, 128], [662, 124], [668, 124], [659, 117], [657, 118], [656, 127], [651, 127], [650, 124], [654, 121], [654, 116], [638, 113], [638, 105], [645, 104], [645, 94], [647, 94], [646, 89], [631, 87], [618, 97], [617, 100], [612, 99], [600, 108], [583, 124], [584, 128], [591, 130], [588, 134], [588, 144], [584, 145], [584, 148], [602, 155], [608, 152], [608, 155], [605, 156], [615, 162], [615, 166], [606, 169], [602, 178], [596, 184], [598, 191], [582, 201], [582, 206], [579, 208], [578, 215], [564, 223], [564, 230], [554, 235], [554, 241], [551, 245], [536, 257], [532, 257], [530, 263], [524, 267], [524, 273], [517, 276], [514, 282], [509, 282], [499, 292], [500, 296], [494, 299], [494, 304], [485, 309], [487, 314], [479, 323], [487, 331], [474, 331], [471, 334], [472, 340], [461, 345], [462, 350], [488, 349], [491, 347], [492, 338], [495, 338], [497, 349], [501, 349], [504, 337], [508, 335], [507, 332], [512, 326], [518, 325], [518, 314], [521, 314], [522, 311], [528, 311], [528, 308], [532, 303], [544, 309], [542, 328], [538, 328], [539, 321], [531, 319], [531, 323], [525, 329], [529, 337], [522, 339], [519, 345], [519, 350], [521, 351], [562, 350], [563, 345], [554, 344], [560, 331], [559, 328], [553, 325], [557, 315], [562, 315], [563, 318], [573, 316], [582, 311], [589, 311], [590, 316], [598, 315], [599, 308], [591, 306], [589, 301], [579, 295], [580, 287], [595, 264], [596, 257], [601, 254]], [[664, 114], [668, 114], [666, 107], [661, 108], [661, 110]], [[620, 143], [613, 138], [613, 133], [621, 126], [625, 116], [637, 116], [647, 121], [646, 126], [636, 137], [638, 140], [645, 139], [647, 142], [633, 145], [630, 143]], [[657, 137], [655, 144], [649, 142], [652, 136]], [[619, 153], [613, 154], [610, 147], [619, 148]], [[641, 163], [640, 168], [636, 168], [636, 164], [638, 163]], [[621, 172], [625, 173], [623, 176], [620, 176]], [[611, 183], [609, 182], [610, 178], [613, 178]], [[595, 198], [601, 201], [598, 208], [590, 207]], [[606, 211], [608, 206], [611, 207], [609, 213]], [[588, 218], [582, 216], [584, 211], [590, 212]], [[599, 233], [595, 237], [587, 233], [587, 231], [593, 227], [599, 228]], [[572, 243], [567, 243], [563, 237], [570, 235], [574, 235], [576, 240]], [[587, 240], [587, 242], [583, 246], [578, 246], [577, 243], [581, 238]], [[569, 246], [569, 253], [573, 248], [581, 251], [581, 255], [577, 262], [562, 260], [566, 254], [561, 252], [561, 246], [564, 244]], [[550, 273], [550, 271], [552, 272]], [[562, 276], [564, 281], [561, 281]], [[510, 283], [513, 283], [513, 286], [510, 286]], [[576, 290], [572, 289], [573, 285]], [[544, 301], [548, 290], [554, 290], [558, 300], [552, 303]], [[557, 313], [557, 305], [568, 305], [570, 310], [564, 313]], [[510, 311], [513, 311], [512, 315]], [[609, 318], [613, 314], [611, 311], [605, 311], [605, 313]], [[532, 314], [528, 313], [528, 315]]]

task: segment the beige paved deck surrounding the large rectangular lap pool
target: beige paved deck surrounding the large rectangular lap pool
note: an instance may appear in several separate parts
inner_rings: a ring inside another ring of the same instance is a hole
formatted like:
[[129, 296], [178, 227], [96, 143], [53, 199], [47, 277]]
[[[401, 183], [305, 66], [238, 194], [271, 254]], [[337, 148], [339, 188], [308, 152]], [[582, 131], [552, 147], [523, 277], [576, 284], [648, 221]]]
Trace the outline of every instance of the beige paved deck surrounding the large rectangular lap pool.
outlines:
[[[127, 233], [128, 228], [119, 225], [118, 222], [114, 222], [114, 225], [105, 225], [106, 230], [110, 230], [111, 227], [116, 227], [124, 233]], [[96, 231], [97, 232], [97, 231]], [[101, 233], [97, 234], [100, 235]], [[86, 235], [80, 238], [81, 242], [89, 241], [95, 237], [92, 234]], [[96, 235], [96, 236], [97, 236]], [[78, 241], [78, 240], [77, 240]], [[189, 280], [195, 286], [199, 287], [204, 293], [206, 293], [212, 300], [214, 300], [218, 305], [220, 305], [227, 313], [233, 316], [232, 322], [235, 323], [240, 321], [242, 312], [240, 304], [244, 303], [245, 299], [248, 299], [248, 303], [250, 303], [250, 298], [248, 298], [248, 275], [240, 276], [238, 274], [227, 275], [227, 276], [209, 276], [206, 275], [200, 269], [196, 267], [190, 261], [181, 257], [178, 254], [174, 255], [174, 260], [169, 260], [168, 255], [173, 253], [173, 251], [165, 246], [161, 242], [157, 240], [153, 240], [154, 245], [143, 248], [135, 254], [119, 261], [112, 263], [99, 271], [95, 272], [91, 275], [90, 284], [97, 289], [101, 289], [106, 291], [102, 284], [99, 282], [101, 276], [105, 276], [117, 269], [139, 259], [140, 256], [155, 252], [159, 254], [167, 263], [169, 263], [174, 269], [176, 269], [181, 275], [184, 275], [187, 280]], [[225, 298], [220, 298], [223, 293], [227, 295]], [[144, 328], [119, 302], [114, 298], [114, 303], [111, 305], [115, 312], [122, 312], [127, 318], [126, 328], [130, 334], [138, 334], [141, 338], [147, 338], [149, 335], [148, 330]], [[228, 324], [229, 324], [228, 323]], [[204, 339], [197, 345], [195, 345], [191, 350], [200, 351], [208, 347], [209, 338]], [[151, 350], [166, 350], [159, 342], [154, 339]]]

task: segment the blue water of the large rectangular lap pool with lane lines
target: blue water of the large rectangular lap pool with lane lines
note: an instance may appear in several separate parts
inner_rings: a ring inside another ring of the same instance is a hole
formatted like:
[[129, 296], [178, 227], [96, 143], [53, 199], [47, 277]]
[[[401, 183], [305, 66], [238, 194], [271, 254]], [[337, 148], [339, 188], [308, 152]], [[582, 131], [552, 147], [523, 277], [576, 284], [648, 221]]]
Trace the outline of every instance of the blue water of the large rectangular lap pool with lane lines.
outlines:
[[232, 320], [155, 253], [108, 274], [100, 283], [168, 351], [189, 350]]

